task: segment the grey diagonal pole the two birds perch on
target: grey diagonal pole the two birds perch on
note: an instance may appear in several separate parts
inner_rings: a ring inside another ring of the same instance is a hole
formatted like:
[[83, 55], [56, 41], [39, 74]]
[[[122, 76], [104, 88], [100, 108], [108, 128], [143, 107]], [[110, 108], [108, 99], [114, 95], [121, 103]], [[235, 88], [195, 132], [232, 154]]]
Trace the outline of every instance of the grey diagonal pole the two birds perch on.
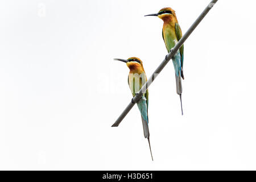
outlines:
[[141, 90], [136, 94], [135, 97], [131, 100], [129, 105], [123, 110], [122, 114], [117, 118], [117, 121], [112, 125], [112, 127], [117, 127], [123, 118], [129, 113], [131, 108], [141, 99], [142, 94], [146, 92], [148, 87], [151, 85], [151, 83], [155, 80], [156, 76], [163, 70], [163, 68], [166, 66], [166, 64], [172, 59], [172, 57], [175, 55], [175, 53], [179, 50], [179, 48], [184, 44], [185, 40], [191, 35], [193, 30], [199, 25], [201, 20], [204, 19], [205, 15], [212, 9], [214, 4], [218, 0], [212, 0], [207, 7], [205, 7], [204, 11], [199, 15], [199, 17], [195, 20], [195, 22], [192, 24], [191, 27], [189, 27], [188, 31], [185, 32], [185, 34], [182, 36], [182, 38], [179, 40], [179, 42], [176, 44], [174, 48], [171, 49], [170, 53], [166, 56], [166, 58], [162, 61], [162, 63], [159, 65], [158, 68], [156, 68], [155, 72], [151, 75], [151, 77], [148, 79], [148, 81], [142, 86]]

